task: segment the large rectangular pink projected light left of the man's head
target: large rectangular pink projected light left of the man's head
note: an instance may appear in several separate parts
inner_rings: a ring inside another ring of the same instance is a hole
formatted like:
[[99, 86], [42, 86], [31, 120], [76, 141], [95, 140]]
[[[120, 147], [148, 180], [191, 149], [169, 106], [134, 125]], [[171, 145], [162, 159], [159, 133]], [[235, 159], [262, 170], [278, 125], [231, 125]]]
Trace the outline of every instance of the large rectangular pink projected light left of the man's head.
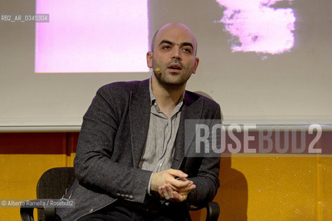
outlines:
[[35, 72], [147, 72], [147, 1], [37, 0]]

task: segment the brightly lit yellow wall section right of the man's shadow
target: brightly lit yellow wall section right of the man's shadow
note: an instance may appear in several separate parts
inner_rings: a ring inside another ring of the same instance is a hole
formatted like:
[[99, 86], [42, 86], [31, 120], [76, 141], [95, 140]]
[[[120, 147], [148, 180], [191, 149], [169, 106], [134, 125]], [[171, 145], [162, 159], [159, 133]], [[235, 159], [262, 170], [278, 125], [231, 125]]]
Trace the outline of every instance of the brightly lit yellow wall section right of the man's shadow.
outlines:
[[248, 183], [248, 220], [318, 220], [316, 157], [233, 155], [231, 164]]

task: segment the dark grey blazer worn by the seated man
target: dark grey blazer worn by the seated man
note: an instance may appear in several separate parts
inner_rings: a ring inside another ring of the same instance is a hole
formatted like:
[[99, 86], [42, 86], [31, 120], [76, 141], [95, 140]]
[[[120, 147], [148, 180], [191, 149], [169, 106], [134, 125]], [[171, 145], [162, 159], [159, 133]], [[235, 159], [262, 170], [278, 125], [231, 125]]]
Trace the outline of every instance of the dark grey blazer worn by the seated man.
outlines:
[[[99, 88], [84, 115], [74, 161], [76, 179], [65, 198], [72, 208], [57, 209], [61, 220], [77, 220], [118, 198], [143, 203], [151, 171], [138, 169], [150, 119], [148, 79]], [[188, 203], [213, 200], [219, 187], [219, 157], [184, 156], [184, 119], [220, 119], [219, 105], [186, 91], [175, 140], [173, 169], [193, 180]]]

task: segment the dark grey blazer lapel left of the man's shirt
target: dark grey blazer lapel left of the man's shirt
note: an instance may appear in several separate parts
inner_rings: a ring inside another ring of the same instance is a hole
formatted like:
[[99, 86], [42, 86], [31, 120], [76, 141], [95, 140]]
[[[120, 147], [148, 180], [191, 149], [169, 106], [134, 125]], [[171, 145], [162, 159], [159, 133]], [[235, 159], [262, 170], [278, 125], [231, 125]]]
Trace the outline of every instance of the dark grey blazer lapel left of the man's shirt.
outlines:
[[150, 93], [148, 79], [141, 81], [137, 93], [130, 95], [130, 135], [133, 148], [133, 164], [137, 168], [144, 151], [150, 122]]

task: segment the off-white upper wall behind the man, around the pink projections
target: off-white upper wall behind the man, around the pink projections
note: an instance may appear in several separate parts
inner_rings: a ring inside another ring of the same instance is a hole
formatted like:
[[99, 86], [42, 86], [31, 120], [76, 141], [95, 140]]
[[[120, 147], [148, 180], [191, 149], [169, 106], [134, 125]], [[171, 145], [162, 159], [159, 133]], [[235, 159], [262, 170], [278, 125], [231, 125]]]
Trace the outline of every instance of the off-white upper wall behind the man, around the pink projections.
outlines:
[[[187, 88], [213, 97], [226, 122], [280, 119], [331, 124], [331, 5], [329, 0], [295, 0], [295, 47], [265, 60], [253, 52], [231, 52], [222, 23], [214, 22], [223, 11], [214, 0], [195, 0], [190, 5], [150, 1], [149, 31], [153, 35], [170, 21], [184, 22], [193, 30], [200, 62]], [[35, 1], [1, 1], [0, 12], [34, 14]], [[0, 23], [0, 48], [0, 131], [78, 130], [97, 88], [150, 76], [35, 73], [34, 23]]]

